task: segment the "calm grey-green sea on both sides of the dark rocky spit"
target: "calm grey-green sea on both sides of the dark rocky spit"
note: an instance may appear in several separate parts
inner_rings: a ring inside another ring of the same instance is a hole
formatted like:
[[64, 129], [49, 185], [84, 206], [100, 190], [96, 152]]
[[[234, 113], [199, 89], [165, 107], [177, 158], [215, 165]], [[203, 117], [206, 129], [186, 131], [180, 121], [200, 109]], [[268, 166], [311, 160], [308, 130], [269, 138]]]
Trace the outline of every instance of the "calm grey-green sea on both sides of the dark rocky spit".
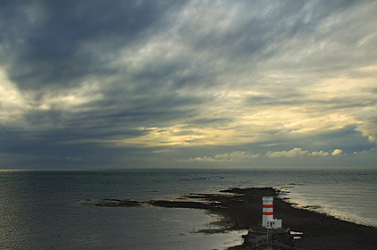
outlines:
[[377, 227], [376, 179], [377, 169], [356, 168], [0, 171], [0, 249], [225, 249], [247, 231], [205, 232], [218, 227], [218, 215], [77, 201], [177, 199], [229, 187], [280, 188], [297, 207]]

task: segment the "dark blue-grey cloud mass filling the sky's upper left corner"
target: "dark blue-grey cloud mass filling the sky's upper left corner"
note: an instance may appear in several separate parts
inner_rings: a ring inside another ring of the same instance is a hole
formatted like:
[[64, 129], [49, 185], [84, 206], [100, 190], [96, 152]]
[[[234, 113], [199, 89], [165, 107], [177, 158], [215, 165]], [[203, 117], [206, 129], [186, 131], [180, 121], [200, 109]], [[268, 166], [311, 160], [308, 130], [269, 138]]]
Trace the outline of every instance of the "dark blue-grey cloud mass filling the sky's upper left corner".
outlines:
[[106, 66], [108, 56], [153, 36], [164, 13], [183, 3], [175, 2], [6, 2], [1, 30], [11, 50], [9, 76], [21, 89], [36, 89], [77, 86], [90, 73], [111, 75], [118, 69]]

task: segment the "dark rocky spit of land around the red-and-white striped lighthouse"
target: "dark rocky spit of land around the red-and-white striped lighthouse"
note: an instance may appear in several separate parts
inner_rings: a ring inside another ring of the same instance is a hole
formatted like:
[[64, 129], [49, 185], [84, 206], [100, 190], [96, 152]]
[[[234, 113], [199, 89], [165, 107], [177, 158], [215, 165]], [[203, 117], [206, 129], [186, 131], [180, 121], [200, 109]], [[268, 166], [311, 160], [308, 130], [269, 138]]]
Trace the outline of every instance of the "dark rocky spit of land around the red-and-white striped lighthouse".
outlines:
[[[169, 208], [202, 209], [219, 214], [219, 229], [209, 229], [208, 233], [232, 229], [258, 227], [262, 219], [262, 196], [275, 196], [274, 216], [283, 220], [283, 227], [300, 232], [300, 239], [289, 243], [291, 249], [302, 250], [354, 250], [377, 249], [377, 229], [340, 221], [331, 216], [298, 209], [286, 200], [279, 198], [279, 190], [272, 187], [238, 188], [222, 190], [218, 194], [189, 194], [177, 200], [133, 200], [100, 199], [80, 200], [75, 204], [96, 206], [141, 206], [145, 204]], [[232, 246], [230, 250], [253, 249], [244, 243]]]

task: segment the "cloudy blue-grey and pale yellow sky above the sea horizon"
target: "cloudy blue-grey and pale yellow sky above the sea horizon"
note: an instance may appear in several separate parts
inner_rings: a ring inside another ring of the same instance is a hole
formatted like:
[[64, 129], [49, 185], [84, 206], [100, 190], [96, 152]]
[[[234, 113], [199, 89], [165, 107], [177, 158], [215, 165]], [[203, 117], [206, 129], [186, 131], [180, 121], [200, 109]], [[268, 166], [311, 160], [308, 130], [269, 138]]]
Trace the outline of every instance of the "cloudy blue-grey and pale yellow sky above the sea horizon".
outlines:
[[377, 167], [375, 0], [0, 2], [0, 169]]

